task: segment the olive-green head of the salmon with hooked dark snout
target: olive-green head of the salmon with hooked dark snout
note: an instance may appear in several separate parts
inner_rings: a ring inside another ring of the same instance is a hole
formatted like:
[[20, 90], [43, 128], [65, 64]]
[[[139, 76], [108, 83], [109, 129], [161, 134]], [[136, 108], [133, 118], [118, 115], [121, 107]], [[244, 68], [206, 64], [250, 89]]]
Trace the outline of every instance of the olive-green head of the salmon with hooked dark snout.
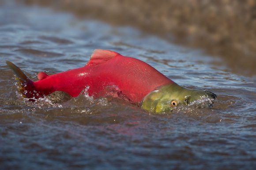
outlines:
[[211, 106], [216, 95], [210, 91], [190, 90], [176, 83], [167, 84], [147, 94], [141, 107], [149, 112], [171, 112], [179, 105], [192, 105], [207, 102]]

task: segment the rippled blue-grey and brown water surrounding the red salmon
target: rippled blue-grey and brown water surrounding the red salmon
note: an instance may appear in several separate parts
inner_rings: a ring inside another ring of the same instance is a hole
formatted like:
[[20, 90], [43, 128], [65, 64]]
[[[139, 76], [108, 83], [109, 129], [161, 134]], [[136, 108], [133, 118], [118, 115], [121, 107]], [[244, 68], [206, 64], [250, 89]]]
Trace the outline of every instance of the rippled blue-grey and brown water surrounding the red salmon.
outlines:
[[[86, 93], [53, 104], [18, 94], [9, 60], [33, 80], [87, 63], [102, 48], [147, 62], [176, 83], [214, 92], [212, 108], [153, 114]], [[81, 20], [50, 8], [0, 6], [1, 169], [254, 169], [256, 80], [221, 58], [132, 27]]]

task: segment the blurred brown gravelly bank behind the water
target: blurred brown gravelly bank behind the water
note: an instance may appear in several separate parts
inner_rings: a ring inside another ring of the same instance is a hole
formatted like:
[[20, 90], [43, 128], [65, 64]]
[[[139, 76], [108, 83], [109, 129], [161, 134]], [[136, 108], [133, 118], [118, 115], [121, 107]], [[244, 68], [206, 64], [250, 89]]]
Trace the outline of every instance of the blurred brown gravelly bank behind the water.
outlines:
[[[19, 0], [18, 0], [19, 1]], [[82, 18], [132, 25], [166, 40], [220, 56], [230, 71], [256, 75], [255, 0], [25, 0]], [[216, 63], [220, 65], [223, 63]]]

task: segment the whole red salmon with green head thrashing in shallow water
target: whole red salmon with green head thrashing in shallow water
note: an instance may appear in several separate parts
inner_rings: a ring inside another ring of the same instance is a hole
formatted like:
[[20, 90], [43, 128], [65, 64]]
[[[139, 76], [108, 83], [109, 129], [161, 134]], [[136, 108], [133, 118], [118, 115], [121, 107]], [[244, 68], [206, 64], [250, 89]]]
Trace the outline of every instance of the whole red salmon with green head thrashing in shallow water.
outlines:
[[12, 62], [6, 64], [15, 74], [19, 92], [32, 101], [55, 91], [76, 97], [86, 88], [93, 98], [110, 95], [148, 112], [161, 113], [202, 98], [207, 98], [211, 106], [217, 98], [210, 91], [181, 87], [146, 62], [110, 50], [94, 50], [87, 64], [77, 69], [52, 75], [39, 72], [37, 81], [32, 81]]

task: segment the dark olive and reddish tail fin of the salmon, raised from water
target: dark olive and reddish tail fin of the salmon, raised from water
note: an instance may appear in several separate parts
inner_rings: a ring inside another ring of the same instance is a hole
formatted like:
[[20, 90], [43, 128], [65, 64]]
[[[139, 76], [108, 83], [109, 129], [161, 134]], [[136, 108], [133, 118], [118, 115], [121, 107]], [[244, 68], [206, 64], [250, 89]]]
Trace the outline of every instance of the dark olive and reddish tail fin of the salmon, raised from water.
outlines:
[[23, 94], [24, 98], [33, 98], [33, 92], [31, 93], [31, 90], [34, 89], [33, 81], [15, 64], [10, 61], [5, 62], [16, 75], [15, 79], [18, 81], [19, 92]]

